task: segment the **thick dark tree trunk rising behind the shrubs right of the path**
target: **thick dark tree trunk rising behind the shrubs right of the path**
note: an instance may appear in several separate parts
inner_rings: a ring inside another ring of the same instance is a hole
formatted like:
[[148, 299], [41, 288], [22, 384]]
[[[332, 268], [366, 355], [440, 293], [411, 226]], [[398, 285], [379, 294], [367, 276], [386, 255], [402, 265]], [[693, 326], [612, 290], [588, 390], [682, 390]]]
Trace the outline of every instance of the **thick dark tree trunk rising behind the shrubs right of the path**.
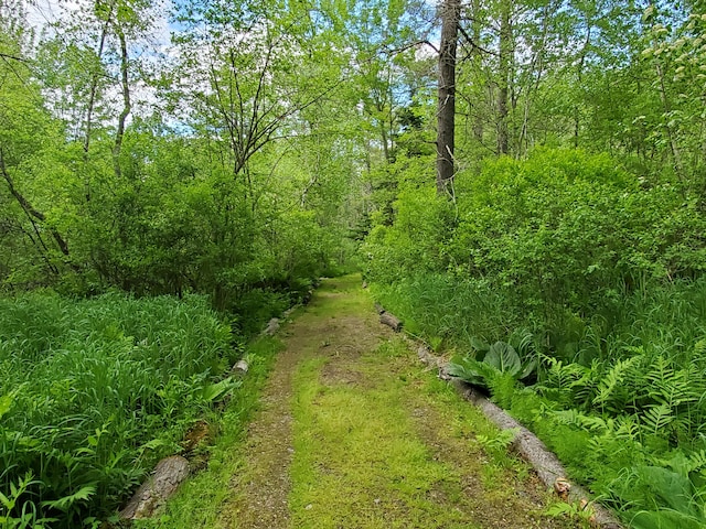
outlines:
[[456, 127], [456, 47], [458, 43], [460, 0], [443, 0], [441, 47], [439, 50], [439, 104], [437, 110], [437, 193], [453, 195], [453, 132]]

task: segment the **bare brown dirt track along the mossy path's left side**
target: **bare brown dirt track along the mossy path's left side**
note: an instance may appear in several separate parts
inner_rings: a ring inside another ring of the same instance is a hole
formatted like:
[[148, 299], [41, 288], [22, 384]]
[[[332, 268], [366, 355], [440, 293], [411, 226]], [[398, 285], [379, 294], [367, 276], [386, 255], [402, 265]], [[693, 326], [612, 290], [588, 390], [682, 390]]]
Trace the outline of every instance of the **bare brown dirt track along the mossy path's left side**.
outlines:
[[[289, 527], [289, 466], [293, 457], [291, 399], [297, 366], [315, 355], [356, 356], [374, 348], [392, 332], [383, 328], [375, 314], [361, 317], [345, 311], [324, 315], [331, 302], [343, 301], [333, 280], [314, 293], [304, 312], [284, 327], [280, 353], [260, 399], [261, 408], [248, 427], [246, 472], [234, 476], [234, 495], [224, 506], [218, 527], [285, 529]], [[356, 282], [357, 284], [357, 282]], [[357, 311], [356, 311], [357, 312]]]

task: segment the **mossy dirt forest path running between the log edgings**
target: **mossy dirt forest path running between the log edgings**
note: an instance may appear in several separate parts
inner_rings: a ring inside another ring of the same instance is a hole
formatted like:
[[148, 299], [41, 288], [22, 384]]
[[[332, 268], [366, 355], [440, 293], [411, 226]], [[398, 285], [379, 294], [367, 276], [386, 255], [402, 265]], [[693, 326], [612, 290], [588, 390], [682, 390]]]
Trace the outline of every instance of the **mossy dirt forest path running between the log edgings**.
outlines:
[[542, 515], [538, 479], [492, 449], [494, 427], [378, 323], [360, 283], [325, 280], [281, 332], [217, 527], [574, 527]]

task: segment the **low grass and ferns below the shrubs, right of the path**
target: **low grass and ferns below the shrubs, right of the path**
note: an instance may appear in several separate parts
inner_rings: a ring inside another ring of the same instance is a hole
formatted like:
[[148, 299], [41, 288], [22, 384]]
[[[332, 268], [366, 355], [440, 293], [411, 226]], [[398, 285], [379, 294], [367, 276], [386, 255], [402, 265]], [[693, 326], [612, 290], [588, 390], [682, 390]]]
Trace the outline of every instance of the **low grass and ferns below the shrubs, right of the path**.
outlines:
[[546, 355], [538, 384], [524, 391], [495, 386], [493, 398], [627, 522], [639, 511], [672, 509], [660, 498], [673, 490], [638, 486], [653, 472], [645, 468], [672, 473], [665, 483], [686, 479], [693, 503], [706, 494], [703, 278], [645, 283], [584, 317], [559, 306], [531, 317], [502, 288], [491, 293], [483, 281], [449, 276], [421, 274], [374, 291], [429, 343], [439, 347], [442, 339], [458, 353], [472, 354], [473, 337], [507, 341], [517, 328], [533, 330], [532, 350]]

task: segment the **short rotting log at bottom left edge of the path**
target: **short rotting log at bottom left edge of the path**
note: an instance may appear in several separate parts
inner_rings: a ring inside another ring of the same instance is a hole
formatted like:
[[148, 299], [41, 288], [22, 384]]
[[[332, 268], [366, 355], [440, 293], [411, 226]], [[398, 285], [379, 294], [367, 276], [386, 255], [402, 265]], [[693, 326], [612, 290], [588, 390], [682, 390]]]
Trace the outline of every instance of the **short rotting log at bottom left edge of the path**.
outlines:
[[186, 476], [189, 476], [189, 461], [186, 458], [181, 455], [164, 457], [120, 511], [120, 518], [125, 520], [149, 518], [176, 492]]

